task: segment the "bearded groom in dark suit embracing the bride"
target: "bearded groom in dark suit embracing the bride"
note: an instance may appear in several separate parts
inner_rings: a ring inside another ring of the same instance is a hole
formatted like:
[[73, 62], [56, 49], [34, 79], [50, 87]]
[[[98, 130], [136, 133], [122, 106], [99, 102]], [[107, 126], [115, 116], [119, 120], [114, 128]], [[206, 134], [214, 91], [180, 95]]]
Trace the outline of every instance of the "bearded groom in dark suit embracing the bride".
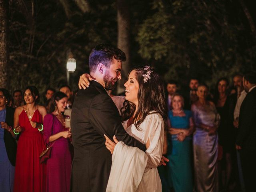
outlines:
[[86, 90], [78, 91], [72, 106], [72, 192], [106, 191], [112, 155], [105, 146], [104, 134], [146, 151], [144, 144], [124, 130], [118, 109], [106, 91], [121, 79], [125, 60], [124, 52], [112, 46], [98, 45], [90, 53], [90, 74], [95, 80]]

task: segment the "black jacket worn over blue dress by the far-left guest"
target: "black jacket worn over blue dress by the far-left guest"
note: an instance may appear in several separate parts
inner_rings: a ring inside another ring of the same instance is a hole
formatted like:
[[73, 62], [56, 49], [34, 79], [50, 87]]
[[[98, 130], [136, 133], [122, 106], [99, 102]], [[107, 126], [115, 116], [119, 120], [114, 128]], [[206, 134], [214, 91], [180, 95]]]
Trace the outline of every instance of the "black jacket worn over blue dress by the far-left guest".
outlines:
[[[6, 117], [5, 122], [8, 124], [8, 126], [13, 127], [13, 118], [14, 118], [14, 108], [10, 108], [6, 106]], [[7, 152], [7, 156], [12, 164], [12, 166], [15, 166], [16, 162], [16, 152], [17, 152], [17, 144], [15, 139], [12, 137], [12, 134], [8, 132], [6, 129], [4, 129], [4, 144]]]

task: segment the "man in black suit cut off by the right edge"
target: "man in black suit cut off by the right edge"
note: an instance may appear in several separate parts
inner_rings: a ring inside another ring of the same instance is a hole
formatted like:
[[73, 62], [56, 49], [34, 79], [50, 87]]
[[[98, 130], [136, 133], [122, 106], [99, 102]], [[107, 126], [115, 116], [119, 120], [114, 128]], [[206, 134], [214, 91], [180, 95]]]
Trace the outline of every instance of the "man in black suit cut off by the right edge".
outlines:
[[256, 174], [256, 74], [246, 74], [243, 83], [248, 94], [240, 107], [236, 149], [240, 150], [246, 192], [251, 192]]

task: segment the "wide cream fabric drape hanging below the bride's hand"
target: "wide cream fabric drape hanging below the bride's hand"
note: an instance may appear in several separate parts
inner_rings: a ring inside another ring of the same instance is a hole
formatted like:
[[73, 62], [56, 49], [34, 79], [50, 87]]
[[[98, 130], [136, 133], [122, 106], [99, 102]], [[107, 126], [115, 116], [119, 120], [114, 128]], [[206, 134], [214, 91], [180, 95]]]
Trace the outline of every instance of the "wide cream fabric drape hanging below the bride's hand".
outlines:
[[112, 156], [106, 192], [135, 192], [142, 180], [148, 157], [137, 147], [120, 141]]

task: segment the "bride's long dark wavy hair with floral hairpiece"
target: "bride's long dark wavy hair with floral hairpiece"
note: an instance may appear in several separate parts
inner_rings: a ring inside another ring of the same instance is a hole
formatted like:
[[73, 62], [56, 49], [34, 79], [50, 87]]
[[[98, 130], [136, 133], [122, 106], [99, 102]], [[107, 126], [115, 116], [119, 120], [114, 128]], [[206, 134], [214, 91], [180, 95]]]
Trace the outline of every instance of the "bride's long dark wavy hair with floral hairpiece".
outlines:
[[[139, 83], [138, 90], [138, 110], [134, 115], [133, 123], [138, 130], [140, 124], [144, 121], [150, 111], [155, 110], [159, 113], [164, 122], [167, 118], [167, 106], [164, 93], [164, 83], [160, 76], [155, 72], [154, 69], [147, 66], [138, 66], [132, 70], [136, 71], [136, 79]], [[130, 70], [130, 72], [132, 71]], [[148, 70], [150, 74], [148, 75]], [[129, 72], [129, 74], [130, 74]], [[128, 76], [129, 76], [128, 74]], [[144, 76], [143, 76], [144, 75]], [[146, 77], [147, 81], [144, 82]], [[128, 100], [124, 101], [123, 107], [121, 108], [121, 119], [122, 121], [128, 120], [133, 116], [136, 106], [134, 103]], [[166, 127], [166, 124], [165, 124]]]

